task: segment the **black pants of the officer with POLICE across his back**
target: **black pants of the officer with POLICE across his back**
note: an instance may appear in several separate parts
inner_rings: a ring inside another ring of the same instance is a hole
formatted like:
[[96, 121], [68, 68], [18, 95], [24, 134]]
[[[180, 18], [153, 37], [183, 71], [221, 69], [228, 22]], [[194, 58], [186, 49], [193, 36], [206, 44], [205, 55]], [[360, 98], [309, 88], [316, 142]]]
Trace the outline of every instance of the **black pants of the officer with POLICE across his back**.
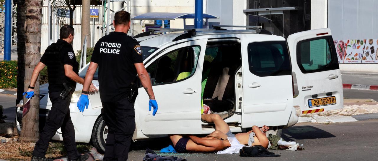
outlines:
[[104, 161], [126, 161], [135, 131], [134, 102], [127, 98], [102, 102], [102, 116], [108, 126]]

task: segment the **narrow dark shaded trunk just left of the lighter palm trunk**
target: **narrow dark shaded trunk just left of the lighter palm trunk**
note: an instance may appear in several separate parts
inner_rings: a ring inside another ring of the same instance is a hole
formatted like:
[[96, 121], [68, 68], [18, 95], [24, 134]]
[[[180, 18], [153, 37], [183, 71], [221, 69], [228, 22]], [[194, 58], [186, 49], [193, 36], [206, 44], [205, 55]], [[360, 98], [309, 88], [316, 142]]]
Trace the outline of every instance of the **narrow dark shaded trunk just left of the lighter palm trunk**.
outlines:
[[23, 99], [25, 77], [25, 0], [17, 1], [17, 99], [16, 104]]

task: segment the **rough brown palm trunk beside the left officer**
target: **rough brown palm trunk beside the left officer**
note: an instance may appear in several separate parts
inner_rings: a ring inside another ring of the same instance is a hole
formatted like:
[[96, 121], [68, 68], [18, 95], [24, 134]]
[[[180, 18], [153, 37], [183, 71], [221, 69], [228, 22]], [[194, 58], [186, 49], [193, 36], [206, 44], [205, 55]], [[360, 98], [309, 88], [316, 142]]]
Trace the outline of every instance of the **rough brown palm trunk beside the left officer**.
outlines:
[[[42, 0], [26, 0], [26, 55], [25, 82], [27, 88], [34, 67], [40, 59], [41, 28], [42, 28]], [[24, 101], [26, 102], [26, 101]], [[34, 87], [34, 97], [30, 100], [28, 114], [22, 118], [22, 132], [20, 141], [36, 142], [39, 139], [39, 78]]]

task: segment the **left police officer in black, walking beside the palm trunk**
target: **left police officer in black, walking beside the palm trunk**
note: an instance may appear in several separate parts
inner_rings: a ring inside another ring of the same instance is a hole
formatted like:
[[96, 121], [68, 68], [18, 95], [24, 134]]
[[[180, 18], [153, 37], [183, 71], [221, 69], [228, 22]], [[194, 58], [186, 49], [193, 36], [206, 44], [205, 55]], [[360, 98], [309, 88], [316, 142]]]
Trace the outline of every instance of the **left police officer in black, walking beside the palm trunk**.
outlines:
[[[70, 117], [71, 95], [76, 87], [76, 82], [84, 84], [84, 79], [79, 77], [79, 64], [76, 61], [72, 48], [74, 28], [69, 25], [60, 28], [60, 39], [47, 47], [40, 62], [36, 65], [31, 77], [31, 82], [26, 98], [33, 97], [34, 85], [40, 71], [47, 66], [48, 92], [52, 103], [46, 125], [40, 133], [40, 138], [34, 147], [32, 161], [52, 160], [45, 157], [48, 142], [55, 135], [57, 129], [62, 129], [64, 146], [67, 149], [69, 160], [84, 161], [88, 154], [80, 155], [76, 149], [75, 131]], [[96, 91], [96, 87], [90, 84], [90, 91]]]

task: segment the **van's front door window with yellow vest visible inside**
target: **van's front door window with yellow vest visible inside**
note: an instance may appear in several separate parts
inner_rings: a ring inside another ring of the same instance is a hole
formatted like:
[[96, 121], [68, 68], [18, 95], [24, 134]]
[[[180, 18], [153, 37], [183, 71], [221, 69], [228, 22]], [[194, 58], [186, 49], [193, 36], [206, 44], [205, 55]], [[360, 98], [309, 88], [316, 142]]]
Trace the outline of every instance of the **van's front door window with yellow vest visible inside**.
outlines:
[[197, 67], [200, 46], [185, 47], [161, 56], [146, 68], [152, 85], [167, 84], [192, 76]]

